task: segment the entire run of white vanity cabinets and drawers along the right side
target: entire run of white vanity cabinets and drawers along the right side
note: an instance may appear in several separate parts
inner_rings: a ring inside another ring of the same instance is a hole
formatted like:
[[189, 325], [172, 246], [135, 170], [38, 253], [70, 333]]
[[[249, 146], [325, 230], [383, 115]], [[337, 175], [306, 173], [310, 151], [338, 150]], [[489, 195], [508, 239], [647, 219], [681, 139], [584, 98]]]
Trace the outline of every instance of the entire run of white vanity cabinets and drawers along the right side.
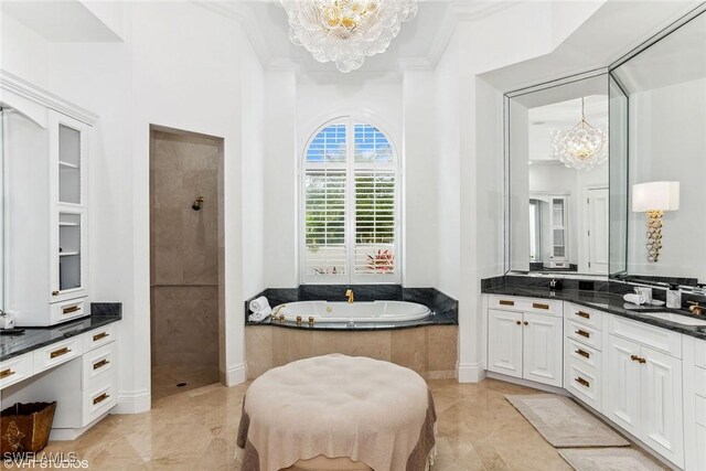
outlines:
[[705, 341], [557, 300], [491, 295], [488, 308], [490, 372], [563, 386], [674, 465], [706, 470]]

